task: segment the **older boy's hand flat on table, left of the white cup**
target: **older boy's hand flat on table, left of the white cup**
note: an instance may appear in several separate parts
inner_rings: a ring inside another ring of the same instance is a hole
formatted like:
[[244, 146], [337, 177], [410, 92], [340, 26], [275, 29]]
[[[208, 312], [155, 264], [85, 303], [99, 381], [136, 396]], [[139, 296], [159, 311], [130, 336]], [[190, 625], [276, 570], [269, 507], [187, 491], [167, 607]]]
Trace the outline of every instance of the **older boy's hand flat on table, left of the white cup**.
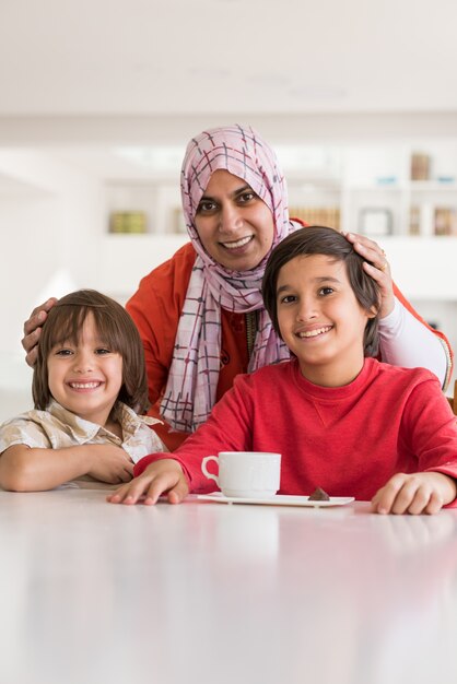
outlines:
[[183, 469], [174, 459], [161, 459], [151, 463], [141, 475], [116, 490], [106, 500], [127, 505], [141, 502], [152, 506], [165, 493], [169, 504], [180, 504], [189, 493]]

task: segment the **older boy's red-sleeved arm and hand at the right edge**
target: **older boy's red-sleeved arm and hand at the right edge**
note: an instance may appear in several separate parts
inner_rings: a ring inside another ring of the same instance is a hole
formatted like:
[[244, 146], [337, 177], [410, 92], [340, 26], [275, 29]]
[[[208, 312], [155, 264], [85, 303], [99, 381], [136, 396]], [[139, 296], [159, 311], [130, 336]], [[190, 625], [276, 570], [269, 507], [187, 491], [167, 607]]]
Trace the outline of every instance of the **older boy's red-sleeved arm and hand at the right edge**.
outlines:
[[421, 382], [411, 392], [403, 428], [418, 456], [419, 472], [390, 477], [373, 497], [373, 510], [438, 512], [457, 496], [457, 423], [436, 378]]

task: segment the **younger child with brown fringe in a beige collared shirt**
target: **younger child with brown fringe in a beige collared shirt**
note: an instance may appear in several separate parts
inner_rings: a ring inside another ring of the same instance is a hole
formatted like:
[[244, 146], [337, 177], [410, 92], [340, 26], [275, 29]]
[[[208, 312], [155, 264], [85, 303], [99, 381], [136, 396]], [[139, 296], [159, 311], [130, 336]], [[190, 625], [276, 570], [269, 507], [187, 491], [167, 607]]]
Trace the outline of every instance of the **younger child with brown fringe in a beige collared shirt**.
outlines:
[[[166, 447], [143, 413], [143, 345], [122, 306], [94, 290], [49, 311], [34, 367], [35, 408], [0, 425], [0, 487], [12, 492], [112, 486]], [[84, 483], [84, 484], [82, 484]]]

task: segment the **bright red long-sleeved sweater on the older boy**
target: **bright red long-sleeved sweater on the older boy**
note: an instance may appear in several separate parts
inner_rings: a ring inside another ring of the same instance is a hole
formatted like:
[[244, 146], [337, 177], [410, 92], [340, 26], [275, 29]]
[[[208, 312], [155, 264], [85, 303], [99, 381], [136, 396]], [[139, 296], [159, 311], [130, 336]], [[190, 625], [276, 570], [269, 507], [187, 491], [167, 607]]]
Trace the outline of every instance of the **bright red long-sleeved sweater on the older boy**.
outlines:
[[[397, 472], [457, 477], [457, 422], [436, 376], [423, 368], [366, 358], [353, 382], [327, 388], [292, 361], [238, 376], [173, 458], [190, 490], [208, 493], [214, 483], [201, 472], [202, 458], [246, 450], [282, 453], [280, 494], [320, 486], [368, 500]], [[144, 457], [134, 474], [162, 458], [169, 453]]]

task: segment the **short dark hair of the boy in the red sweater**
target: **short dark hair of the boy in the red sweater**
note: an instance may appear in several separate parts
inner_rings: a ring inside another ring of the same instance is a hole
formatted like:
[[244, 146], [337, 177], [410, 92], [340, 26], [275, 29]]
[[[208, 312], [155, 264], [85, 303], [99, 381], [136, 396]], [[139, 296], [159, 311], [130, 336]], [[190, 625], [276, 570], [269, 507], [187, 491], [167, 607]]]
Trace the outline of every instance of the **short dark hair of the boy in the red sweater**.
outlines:
[[[277, 284], [283, 266], [295, 257], [326, 255], [345, 264], [348, 279], [359, 304], [367, 311], [379, 310], [378, 284], [363, 270], [364, 259], [356, 253], [343, 235], [324, 226], [309, 226], [291, 233], [272, 250], [265, 269], [262, 297], [273, 328], [280, 335], [278, 325]], [[378, 349], [378, 317], [368, 319], [364, 334], [365, 356], [376, 356]]]

